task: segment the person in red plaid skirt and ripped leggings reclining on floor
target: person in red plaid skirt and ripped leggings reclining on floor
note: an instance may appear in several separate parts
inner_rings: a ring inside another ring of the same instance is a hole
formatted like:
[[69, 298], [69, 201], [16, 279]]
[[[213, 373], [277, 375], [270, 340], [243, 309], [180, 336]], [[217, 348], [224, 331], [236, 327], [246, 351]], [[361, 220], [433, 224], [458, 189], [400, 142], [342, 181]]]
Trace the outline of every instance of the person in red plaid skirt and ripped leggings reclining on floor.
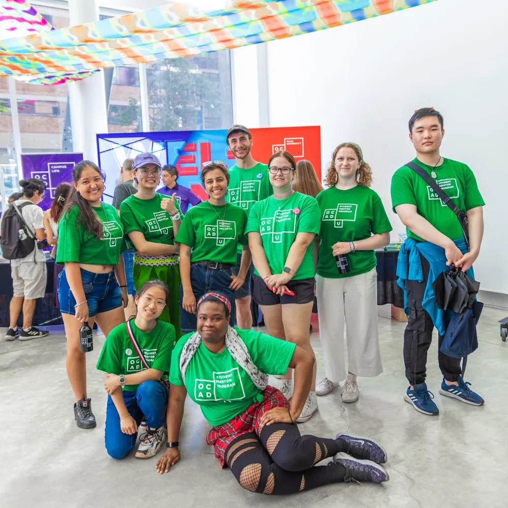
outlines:
[[[230, 309], [223, 295], [204, 295], [197, 304], [198, 331], [176, 345], [168, 444], [157, 471], [168, 472], [180, 460], [178, 438], [188, 391], [213, 426], [207, 443], [244, 489], [291, 494], [329, 483], [386, 482], [388, 474], [378, 465], [386, 462], [386, 452], [375, 441], [351, 434], [335, 439], [300, 435], [295, 421], [309, 393], [314, 359], [292, 342], [230, 327]], [[284, 374], [288, 367], [295, 369], [291, 405], [267, 386], [266, 375]], [[336, 454], [328, 465], [314, 466]]]

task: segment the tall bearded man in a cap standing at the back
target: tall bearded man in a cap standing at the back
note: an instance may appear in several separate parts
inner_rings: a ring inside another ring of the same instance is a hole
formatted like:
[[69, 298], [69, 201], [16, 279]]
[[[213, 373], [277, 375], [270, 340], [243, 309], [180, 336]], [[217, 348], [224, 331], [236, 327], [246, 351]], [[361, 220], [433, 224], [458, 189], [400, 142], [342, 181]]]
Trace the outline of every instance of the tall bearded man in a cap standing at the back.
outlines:
[[[226, 134], [226, 142], [235, 156], [235, 165], [229, 170], [230, 183], [226, 199], [248, 214], [254, 203], [273, 194], [268, 180], [268, 166], [252, 157], [252, 136], [244, 125], [233, 125]], [[231, 269], [233, 275], [239, 273], [241, 256], [242, 246], [238, 245], [236, 266]], [[252, 326], [250, 286], [253, 270], [251, 263], [241, 288], [235, 290], [236, 320], [243, 329]]]

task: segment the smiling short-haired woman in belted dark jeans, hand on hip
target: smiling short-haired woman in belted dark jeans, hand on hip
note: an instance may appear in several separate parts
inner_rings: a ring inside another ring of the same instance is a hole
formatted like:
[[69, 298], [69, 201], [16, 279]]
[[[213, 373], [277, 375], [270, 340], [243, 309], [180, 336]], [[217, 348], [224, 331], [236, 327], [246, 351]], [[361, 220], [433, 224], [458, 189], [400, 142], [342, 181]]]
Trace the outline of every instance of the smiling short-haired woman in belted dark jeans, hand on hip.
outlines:
[[[245, 280], [251, 260], [245, 236], [247, 212], [226, 202], [228, 168], [221, 161], [205, 163], [201, 181], [210, 198], [187, 212], [175, 240], [180, 244], [182, 333], [196, 329], [196, 302], [207, 291], [220, 292], [233, 299], [234, 291]], [[238, 242], [242, 245], [242, 257], [238, 275], [234, 275]], [[234, 309], [233, 306], [232, 325], [235, 324]]]

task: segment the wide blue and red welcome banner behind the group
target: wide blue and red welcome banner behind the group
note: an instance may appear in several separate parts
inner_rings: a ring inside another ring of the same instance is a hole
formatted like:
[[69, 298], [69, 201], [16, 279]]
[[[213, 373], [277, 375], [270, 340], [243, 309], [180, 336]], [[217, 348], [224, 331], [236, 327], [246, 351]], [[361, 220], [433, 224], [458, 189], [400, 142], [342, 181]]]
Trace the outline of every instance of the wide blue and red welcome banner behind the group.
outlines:
[[[302, 159], [310, 161], [321, 181], [319, 126], [250, 129], [250, 133], [252, 156], [256, 161], [266, 164], [274, 152], [287, 150], [297, 162]], [[176, 166], [178, 184], [190, 188], [201, 199], [207, 200], [208, 196], [200, 180], [203, 164], [224, 161], [228, 168], [235, 164], [235, 157], [226, 143], [226, 134], [226, 129], [98, 134], [99, 166], [106, 174], [107, 185], [104, 201], [112, 202], [123, 161], [142, 152], [154, 153], [163, 165]], [[251, 189], [235, 189], [235, 192], [248, 194]]]

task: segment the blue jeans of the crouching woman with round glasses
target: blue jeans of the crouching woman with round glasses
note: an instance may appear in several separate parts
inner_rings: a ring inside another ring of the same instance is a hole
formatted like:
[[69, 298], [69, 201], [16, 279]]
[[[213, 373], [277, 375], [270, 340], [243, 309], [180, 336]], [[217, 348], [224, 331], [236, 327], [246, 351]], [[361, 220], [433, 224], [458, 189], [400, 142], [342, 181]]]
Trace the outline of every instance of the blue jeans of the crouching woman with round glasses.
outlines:
[[[164, 424], [166, 399], [166, 389], [161, 383], [153, 380], [143, 381], [135, 392], [123, 392], [125, 406], [137, 425], [141, 423], [144, 415], [146, 425], [157, 429]], [[134, 448], [137, 437], [137, 433], [129, 435], [121, 431], [120, 415], [111, 395], [108, 395], [104, 435], [108, 455], [113, 459], [123, 459]]]

